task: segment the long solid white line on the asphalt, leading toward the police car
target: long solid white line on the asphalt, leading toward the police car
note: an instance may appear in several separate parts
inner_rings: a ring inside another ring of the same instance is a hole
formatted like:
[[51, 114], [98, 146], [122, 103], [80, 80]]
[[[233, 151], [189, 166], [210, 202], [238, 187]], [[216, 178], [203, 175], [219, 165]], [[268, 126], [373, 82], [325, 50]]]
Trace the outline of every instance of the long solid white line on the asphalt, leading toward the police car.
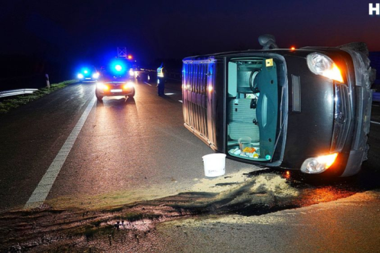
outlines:
[[95, 102], [96, 98], [94, 97], [88, 104], [86, 110], [83, 112], [81, 118], [78, 120], [78, 123], [72, 129], [61, 150], [59, 150], [53, 162], [50, 164], [44, 177], [33, 191], [24, 208], [38, 207], [40, 204], [44, 203]]

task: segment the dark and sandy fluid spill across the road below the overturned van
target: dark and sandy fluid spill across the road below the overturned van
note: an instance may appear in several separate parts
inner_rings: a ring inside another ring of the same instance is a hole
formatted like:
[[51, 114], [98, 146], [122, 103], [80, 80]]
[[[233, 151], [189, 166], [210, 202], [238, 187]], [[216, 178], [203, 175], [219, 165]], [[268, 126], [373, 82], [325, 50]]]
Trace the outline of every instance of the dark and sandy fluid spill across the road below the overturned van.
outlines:
[[379, 179], [373, 171], [331, 180], [263, 170], [201, 179], [187, 192], [98, 210], [13, 210], [0, 214], [0, 252], [158, 252], [158, 224], [202, 217], [254, 222], [255, 216], [377, 189]]

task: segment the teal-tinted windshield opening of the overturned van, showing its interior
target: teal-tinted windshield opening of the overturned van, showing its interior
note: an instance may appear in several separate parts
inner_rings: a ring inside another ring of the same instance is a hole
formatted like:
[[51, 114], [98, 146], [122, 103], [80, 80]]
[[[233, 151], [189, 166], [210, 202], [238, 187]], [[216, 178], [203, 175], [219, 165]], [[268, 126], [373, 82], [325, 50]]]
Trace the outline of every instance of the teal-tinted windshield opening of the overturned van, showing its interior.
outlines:
[[[280, 60], [232, 58], [227, 70], [227, 154], [272, 161], [280, 130]], [[281, 78], [285, 79], [285, 78]]]

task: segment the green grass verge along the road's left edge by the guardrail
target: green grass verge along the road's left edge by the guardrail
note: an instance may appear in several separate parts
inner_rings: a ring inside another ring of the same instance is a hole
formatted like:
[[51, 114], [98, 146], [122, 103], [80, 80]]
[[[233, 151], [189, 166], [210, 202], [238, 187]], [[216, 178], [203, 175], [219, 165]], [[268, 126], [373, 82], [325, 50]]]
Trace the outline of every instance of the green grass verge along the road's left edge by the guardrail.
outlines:
[[59, 83], [54, 83], [53, 85], [50, 85], [50, 88], [42, 88], [38, 91], [33, 92], [33, 94], [24, 94], [19, 96], [14, 96], [12, 98], [6, 98], [3, 101], [0, 101], [0, 114], [1, 113], [7, 113], [9, 110], [19, 107], [20, 105], [24, 105], [30, 101], [39, 99], [46, 94], [52, 93], [56, 90], [65, 88], [67, 85], [70, 85], [71, 83], [77, 82], [77, 80], [67, 80], [62, 81]]

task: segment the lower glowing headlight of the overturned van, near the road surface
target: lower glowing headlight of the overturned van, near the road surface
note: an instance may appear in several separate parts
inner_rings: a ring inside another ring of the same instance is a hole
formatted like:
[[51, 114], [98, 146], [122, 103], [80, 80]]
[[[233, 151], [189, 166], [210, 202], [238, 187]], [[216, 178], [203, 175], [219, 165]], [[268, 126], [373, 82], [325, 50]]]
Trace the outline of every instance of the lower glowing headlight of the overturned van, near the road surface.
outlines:
[[306, 159], [301, 166], [301, 172], [308, 174], [318, 174], [326, 171], [335, 161], [338, 153], [321, 155]]

